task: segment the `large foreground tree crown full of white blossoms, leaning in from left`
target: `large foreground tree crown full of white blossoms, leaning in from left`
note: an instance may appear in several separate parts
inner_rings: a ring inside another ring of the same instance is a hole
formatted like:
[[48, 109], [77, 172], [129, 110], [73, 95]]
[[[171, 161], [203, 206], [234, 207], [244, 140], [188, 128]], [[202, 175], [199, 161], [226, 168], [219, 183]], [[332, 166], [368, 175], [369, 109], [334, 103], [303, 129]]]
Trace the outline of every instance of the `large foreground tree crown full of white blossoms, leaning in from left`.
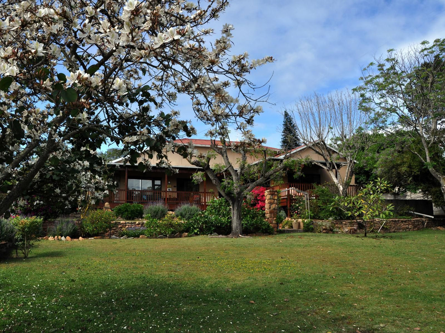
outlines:
[[207, 24], [227, 5], [227, 0], [2, 3], [0, 185], [8, 188], [0, 215], [39, 178], [45, 163], [61, 163], [65, 146], [88, 159], [83, 152], [108, 139], [129, 150], [130, 163], [149, 149], [149, 159], [156, 154], [168, 165], [166, 151], [185, 151], [173, 140], [194, 133], [173, 110], [178, 94], [190, 95], [198, 119], [215, 124], [212, 135], [236, 123], [250, 138], [247, 127], [261, 110], [252, 103], [253, 86], [245, 77], [272, 58], [228, 56], [230, 24], [213, 44], [206, 42], [213, 33]]

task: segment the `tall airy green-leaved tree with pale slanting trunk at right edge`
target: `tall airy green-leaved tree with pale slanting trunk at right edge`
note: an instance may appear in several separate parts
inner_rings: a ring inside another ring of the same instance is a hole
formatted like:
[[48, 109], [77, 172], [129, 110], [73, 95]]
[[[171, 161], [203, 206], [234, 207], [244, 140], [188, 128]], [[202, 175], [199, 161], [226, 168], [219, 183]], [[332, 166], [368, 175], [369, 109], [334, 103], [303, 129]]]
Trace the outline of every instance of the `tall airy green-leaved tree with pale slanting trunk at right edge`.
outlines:
[[373, 116], [380, 131], [403, 130], [406, 148], [440, 184], [445, 199], [445, 172], [434, 158], [445, 143], [445, 40], [424, 41], [401, 52], [390, 49], [363, 72], [363, 83], [355, 89], [360, 108]]

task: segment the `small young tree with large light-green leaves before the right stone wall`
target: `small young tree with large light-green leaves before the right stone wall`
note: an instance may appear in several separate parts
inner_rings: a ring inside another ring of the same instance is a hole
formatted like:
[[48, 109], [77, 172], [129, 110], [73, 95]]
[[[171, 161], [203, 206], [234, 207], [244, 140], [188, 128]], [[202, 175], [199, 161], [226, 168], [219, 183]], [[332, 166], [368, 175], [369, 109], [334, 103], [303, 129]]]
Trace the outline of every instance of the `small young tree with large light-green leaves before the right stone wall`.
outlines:
[[356, 195], [337, 196], [331, 203], [330, 209], [340, 209], [348, 217], [360, 220], [364, 225], [364, 236], [367, 235], [367, 226], [376, 218], [381, 220], [392, 216], [394, 206], [384, 205], [382, 194], [391, 189], [391, 185], [383, 179], [369, 182]]

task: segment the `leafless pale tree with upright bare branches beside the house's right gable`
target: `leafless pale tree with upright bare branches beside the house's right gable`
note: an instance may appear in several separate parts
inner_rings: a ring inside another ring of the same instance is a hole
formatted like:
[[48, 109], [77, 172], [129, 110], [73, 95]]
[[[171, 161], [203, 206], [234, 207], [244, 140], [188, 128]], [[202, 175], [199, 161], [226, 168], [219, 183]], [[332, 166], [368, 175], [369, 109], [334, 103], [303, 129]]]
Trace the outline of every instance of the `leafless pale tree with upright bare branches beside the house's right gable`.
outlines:
[[[290, 112], [295, 120], [293, 135], [320, 155], [312, 163], [328, 171], [341, 195], [346, 195], [354, 175], [354, 161], [364, 140], [367, 116], [358, 108], [359, 96], [351, 91], [327, 95], [314, 93], [300, 99]], [[344, 161], [340, 161], [344, 159]], [[344, 176], [340, 168], [346, 168]]]

